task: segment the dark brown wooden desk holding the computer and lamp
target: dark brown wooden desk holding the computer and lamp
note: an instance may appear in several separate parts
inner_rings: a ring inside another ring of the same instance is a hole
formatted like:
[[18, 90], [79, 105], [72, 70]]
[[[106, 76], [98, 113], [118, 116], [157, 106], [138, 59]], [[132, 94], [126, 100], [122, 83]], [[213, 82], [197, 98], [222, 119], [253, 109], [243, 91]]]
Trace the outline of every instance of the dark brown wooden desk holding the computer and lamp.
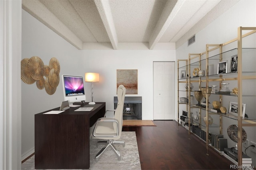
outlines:
[[90, 112], [74, 112], [77, 108], [35, 114], [36, 169], [89, 169], [90, 126], [104, 116], [106, 103], [96, 103]]

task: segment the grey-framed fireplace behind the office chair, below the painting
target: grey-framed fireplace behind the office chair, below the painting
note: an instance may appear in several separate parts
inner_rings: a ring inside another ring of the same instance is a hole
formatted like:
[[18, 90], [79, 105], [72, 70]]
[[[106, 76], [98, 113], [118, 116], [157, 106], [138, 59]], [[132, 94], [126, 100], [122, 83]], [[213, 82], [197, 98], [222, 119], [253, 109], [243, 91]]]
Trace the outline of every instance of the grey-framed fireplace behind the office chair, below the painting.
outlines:
[[[118, 103], [114, 97], [114, 109]], [[142, 120], [142, 97], [127, 96], [124, 98], [123, 120]]]

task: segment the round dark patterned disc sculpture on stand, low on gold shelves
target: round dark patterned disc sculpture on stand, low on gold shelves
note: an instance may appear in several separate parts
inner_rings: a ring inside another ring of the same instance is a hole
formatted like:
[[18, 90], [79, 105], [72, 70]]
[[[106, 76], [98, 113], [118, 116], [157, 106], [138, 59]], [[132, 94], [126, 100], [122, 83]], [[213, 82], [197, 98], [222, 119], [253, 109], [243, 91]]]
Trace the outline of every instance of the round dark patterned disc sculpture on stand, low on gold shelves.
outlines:
[[[231, 150], [232, 152], [237, 154], [237, 142], [238, 142], [238, 126], [235, 124], [232, 124], [230, 126], [228, 126], [227, 129], [227, 133], [228, 133], [228, 137], [233, 140], [234, 142], [236, 142], [236, 147], [232, 147]], [[245, 132], [245, 130], [242, 128], [242, 143], [245, 142], [247, 139], [247, 134]]]

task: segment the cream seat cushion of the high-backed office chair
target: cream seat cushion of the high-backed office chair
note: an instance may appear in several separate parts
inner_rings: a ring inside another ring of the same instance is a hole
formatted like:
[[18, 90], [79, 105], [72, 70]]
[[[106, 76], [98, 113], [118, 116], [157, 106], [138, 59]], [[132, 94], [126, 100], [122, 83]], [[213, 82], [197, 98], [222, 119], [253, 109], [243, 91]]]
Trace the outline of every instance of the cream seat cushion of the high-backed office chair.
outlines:
[[116, 128], [113, 125], [116, 123], [113, 122], [98, 122], [95, 127], [96, 134], [116, 134]]

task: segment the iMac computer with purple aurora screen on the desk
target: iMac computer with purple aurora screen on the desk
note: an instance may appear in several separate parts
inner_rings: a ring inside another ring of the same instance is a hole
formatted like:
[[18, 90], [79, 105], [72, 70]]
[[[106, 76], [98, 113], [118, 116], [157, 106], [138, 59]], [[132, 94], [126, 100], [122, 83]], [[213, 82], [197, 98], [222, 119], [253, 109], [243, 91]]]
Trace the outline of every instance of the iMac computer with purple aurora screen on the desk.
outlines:
[[69, 105], [73, 102], [84, 102], [86, 100], [84, 90], [84, 78], [82, 76], [62, 75], [64, 100]]

